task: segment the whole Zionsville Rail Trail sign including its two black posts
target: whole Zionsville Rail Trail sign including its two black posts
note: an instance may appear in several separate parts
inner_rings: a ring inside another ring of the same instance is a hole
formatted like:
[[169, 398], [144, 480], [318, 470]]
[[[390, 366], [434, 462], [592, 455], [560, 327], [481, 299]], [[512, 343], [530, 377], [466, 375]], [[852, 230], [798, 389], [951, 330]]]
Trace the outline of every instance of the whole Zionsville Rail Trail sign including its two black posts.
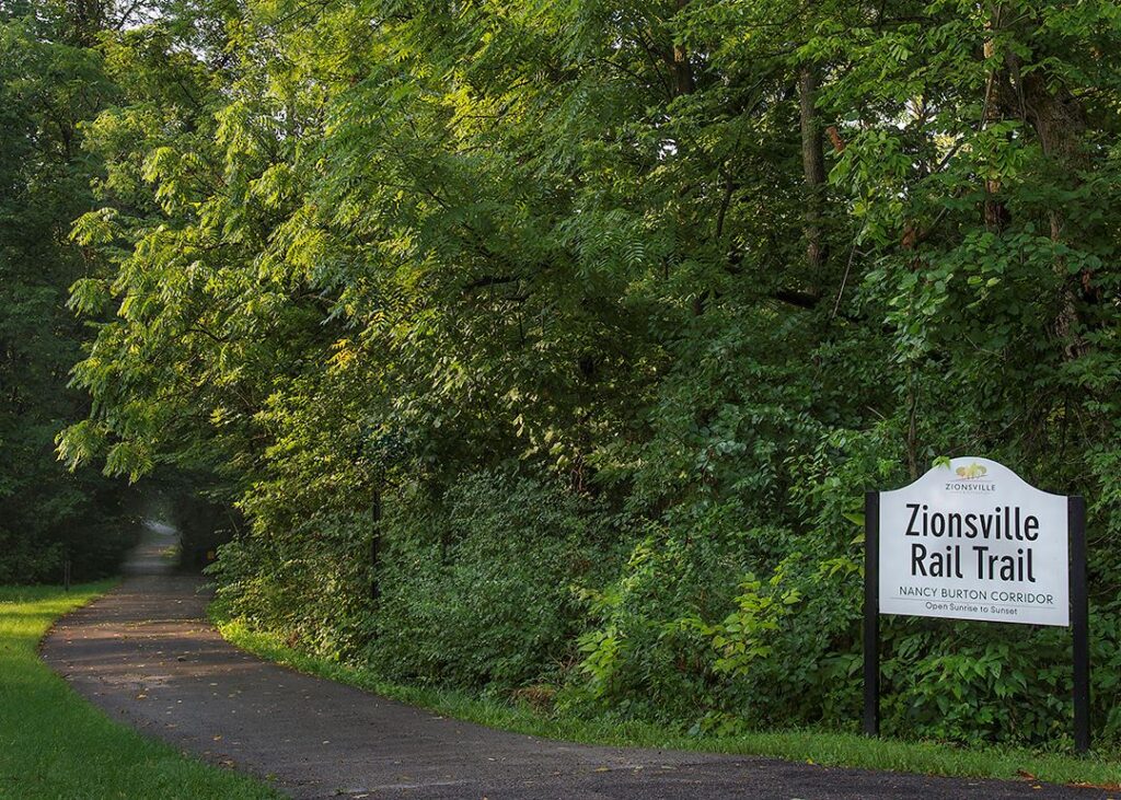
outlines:
[[1085, 503], [984, 458], [864, 500], [864, 733], [879, 735], [879, 616], [1072, 627], [1074, 742], [1090, 748]]

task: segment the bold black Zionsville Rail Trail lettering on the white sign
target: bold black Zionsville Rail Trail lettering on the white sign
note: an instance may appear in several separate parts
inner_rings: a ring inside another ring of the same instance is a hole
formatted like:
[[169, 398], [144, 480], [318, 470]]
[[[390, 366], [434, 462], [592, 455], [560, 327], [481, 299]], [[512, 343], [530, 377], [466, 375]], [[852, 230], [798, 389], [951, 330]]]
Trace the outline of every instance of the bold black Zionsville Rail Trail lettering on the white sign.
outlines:
[[[907, 503], [910, 521], [908, 537], [935, 539], [981, 539], [1032, 542], [1039, 538], [1039, 520], [1025, 514], [1019, 505], [998, 506], [991, 513], [958, 513], [929, 510], [927, 505]], [[911, 542], [912, 576], [964, 578], [963, 569], [981, 580], [1036, 583], [1031, 547], [1017, 548], [1016, 554], [993, 555], [988, 545], [946, 545], [945, 548]]]

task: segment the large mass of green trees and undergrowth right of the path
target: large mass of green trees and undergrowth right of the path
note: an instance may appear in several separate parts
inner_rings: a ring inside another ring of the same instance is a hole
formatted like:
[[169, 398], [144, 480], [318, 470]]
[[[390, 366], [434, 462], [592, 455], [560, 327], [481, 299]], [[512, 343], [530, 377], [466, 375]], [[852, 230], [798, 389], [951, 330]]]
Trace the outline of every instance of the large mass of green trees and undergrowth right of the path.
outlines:
[[[156, 19], [95, 48], [59, 452], [220, 481], [233, 613], [572, 713], [852, 726], [862, 493], [985, 455], [1091, 500], [1121, 735], [1115, 3]], [[890, 621], [886, 729], [1065, 736], [1066, 635]]]

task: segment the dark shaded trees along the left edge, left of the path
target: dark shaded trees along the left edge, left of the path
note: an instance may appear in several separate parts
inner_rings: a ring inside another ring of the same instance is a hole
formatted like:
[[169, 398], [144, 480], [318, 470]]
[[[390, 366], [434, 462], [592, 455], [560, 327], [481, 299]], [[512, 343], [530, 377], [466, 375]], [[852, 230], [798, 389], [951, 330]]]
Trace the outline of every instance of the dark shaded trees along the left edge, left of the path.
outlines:
[[70, 231], [94, 207], [96, 168], [78, 124], [114, 90], [90, 25], [37, 11], [0, 3], [0, 584], [59, 582], [66, 559], [75, 577], [108, 574], [132, 533], [120, 485], [55, 456], [90, 409], [67, 389], [85, 335], [67, 289], [86, 269]]

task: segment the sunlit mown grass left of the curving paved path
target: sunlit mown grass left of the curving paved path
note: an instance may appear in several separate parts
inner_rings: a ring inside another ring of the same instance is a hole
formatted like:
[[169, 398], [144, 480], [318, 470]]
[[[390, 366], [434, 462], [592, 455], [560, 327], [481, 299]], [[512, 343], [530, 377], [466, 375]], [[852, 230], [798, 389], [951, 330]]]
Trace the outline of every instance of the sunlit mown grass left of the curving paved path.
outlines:
[[0, 586], [0, 798], [278, 797], [112, 722], [39, 660], [52, 623], [110, 585]]

